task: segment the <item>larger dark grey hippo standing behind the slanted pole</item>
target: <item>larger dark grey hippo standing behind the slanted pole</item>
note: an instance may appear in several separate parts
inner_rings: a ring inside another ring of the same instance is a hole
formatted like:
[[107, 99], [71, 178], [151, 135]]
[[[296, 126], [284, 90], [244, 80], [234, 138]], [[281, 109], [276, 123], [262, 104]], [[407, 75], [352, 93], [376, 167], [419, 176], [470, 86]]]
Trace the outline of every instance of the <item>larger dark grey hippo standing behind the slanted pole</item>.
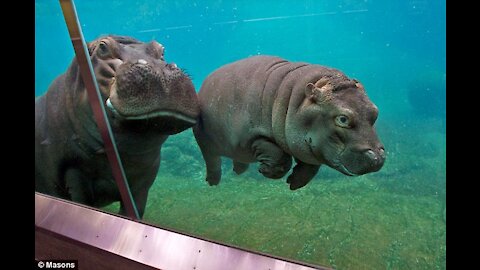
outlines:
[[[156, 41], [105, 36], [88, 50], [142, 217], [162, 143], [196, 123], [198, 97]], [[120, 200], [76, 59], [35, 101], [35, 189], [95, 207]]]

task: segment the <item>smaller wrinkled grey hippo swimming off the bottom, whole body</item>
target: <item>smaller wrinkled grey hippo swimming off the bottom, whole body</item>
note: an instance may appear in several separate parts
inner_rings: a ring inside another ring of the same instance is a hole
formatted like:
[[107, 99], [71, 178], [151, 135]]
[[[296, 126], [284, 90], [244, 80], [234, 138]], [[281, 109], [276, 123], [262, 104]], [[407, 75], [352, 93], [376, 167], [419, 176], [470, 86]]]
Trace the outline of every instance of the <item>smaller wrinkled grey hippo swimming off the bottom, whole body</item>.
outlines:
[[255, 56], [225, 65], [199, 92], [195, 138], [217, 185], [221, 156], [243, 173], [260, 162], [265, 177], [287, 178], [290, 189], [305, 186], [326, 164], [345, 175], [378, 171], [384, 147], [373, 127], [377, 107], [363, 86], [342, 72], [319, 65]]

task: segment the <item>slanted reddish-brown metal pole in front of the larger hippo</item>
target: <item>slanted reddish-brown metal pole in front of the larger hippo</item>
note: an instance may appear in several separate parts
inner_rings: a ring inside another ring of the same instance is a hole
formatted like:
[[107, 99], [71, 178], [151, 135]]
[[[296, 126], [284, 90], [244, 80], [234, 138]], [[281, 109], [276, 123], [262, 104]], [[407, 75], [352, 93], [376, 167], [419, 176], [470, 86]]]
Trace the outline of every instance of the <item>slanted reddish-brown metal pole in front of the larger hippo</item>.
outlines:
[[73, 0], [60, 0], [62, 6], [63, 16], [67, 23], [68, 32], [70, 33], [70, 39], [72, 40], [73, 48], [77, 57], [78, 66], [80, 67], [80, 73], [83, 78], [83, 82], [87, 89], [88, 99], [90, 106], [92, 107], [95, 121], [97, 122], [100, 134], [103, 139], [105, 153], [107, 154], [108, 161], [112, 168], [112, 174], [117, 182], [118, 190], [123, 202], [123, 206], [127, 212], [127, 216], [133, 219], [140, 219], [135, 206], [132, 193], [128, 186], [127, 177], [123, 170], [122, 162], [118, 154], [117, 145], [113, 137], [112, 129], [108, 122], [105, 107], [103, 106], [102, 96], [98, 89], [97, 80], [95, 79], [95, 73], [93, 72], [92, 63], [90, 61], [90, 55], [88, 54], [88, 48], [83, 38], [82, 29], [77, 17], [77, 11]]

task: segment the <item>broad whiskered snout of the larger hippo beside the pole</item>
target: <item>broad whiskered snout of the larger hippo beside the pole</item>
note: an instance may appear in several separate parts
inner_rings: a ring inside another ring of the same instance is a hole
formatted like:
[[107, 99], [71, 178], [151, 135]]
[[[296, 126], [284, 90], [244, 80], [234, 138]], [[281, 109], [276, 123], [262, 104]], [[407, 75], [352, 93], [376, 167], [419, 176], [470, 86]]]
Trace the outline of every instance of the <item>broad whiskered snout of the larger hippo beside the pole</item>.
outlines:
[[118, 119], [150, 119], [149, 125], [170, 135], [195, 125], [200, 111], [188, 75], [175, 63], [150, 58], [130, 59], [118, 67], [106, 105]]

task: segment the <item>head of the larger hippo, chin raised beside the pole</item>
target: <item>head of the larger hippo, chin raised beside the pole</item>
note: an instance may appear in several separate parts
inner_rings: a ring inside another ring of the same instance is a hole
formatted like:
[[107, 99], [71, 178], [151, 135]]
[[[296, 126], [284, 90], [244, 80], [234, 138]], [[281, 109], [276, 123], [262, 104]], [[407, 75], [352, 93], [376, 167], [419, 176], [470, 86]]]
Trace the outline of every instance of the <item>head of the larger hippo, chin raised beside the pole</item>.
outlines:
[[175, 64], [165, 62], [158, 42], [106, 36], [90, 42], [89, 52], [113, 118], [165, 134], [196, 123], [200, 107], [192, 81]]

